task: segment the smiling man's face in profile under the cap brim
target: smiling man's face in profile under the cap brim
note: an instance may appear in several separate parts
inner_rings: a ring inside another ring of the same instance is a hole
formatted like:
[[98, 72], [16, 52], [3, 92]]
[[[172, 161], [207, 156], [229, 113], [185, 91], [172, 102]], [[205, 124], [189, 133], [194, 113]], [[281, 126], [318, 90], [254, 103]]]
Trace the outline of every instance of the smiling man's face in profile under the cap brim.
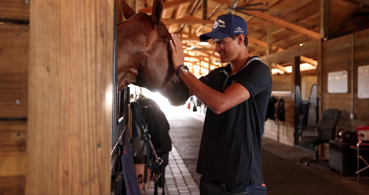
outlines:
[[233, 40], [231, 37], [224, 39], [213, 39], [215, 52], [219, 54], [219, 58], [222, 63], [230, 62], [237, 58], [241, 46], [239, 42], [240, 40], [238, 36], [235, 40]]

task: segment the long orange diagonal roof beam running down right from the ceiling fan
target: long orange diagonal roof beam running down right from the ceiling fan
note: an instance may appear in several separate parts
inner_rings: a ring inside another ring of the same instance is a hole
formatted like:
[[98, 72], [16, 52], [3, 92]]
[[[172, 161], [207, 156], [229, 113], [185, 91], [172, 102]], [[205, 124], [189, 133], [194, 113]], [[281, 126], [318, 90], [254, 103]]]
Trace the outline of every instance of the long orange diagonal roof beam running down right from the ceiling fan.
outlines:
[[[223, 3], [225, 5], [228, 5], [229, 1], [228, 0], [213, 0], [217, 3]], [[261, 11], [254, 11], [254, 10], [246, 10], [244, 11], [245, 13], [248, 13], [250, 15], [254, 15], [258, 18], [261, 18], [265, 21], [269, 21], [269, 22], [272, 22], [273, 24], [278, 24], [280, 25], [281, 27], [285, 27], [285, 28], [288, 28], [288, 29], [291, 29], [293, 31], [296, 31], [296, 32], [299, 32], [301, 34], [304, 34], [306, 36], [309, 36], [313, 39], [320, 39], [320, 35], [314, 31], [310, 31], [306, 28], [303, 28], [303, 27], [300, 27], [298, 25], [295, 25], [295, 24], [292, 24], [290, 22], [286, 22], [284, 20], [281, 20], [279, 18], [276, 18], [274, 16], [271, 16], [269, 14], [266, 14], [264, 12], [261, 12]]]

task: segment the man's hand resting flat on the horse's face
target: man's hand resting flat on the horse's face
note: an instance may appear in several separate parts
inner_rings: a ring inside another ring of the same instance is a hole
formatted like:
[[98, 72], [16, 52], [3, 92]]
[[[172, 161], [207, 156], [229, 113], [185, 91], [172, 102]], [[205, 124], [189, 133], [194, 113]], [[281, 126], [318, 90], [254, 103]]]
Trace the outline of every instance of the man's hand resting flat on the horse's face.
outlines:
[[173, 33], [171, 35], [172, 35], [172, 40], [169, 41], [170, 51], [172, 51], [173, 68], [174, 70], [177, 70], [177, 68], [180, 65], [183, 65], [183, 62], [184, 62], [182, 41], [179, 39], [177, 35]]

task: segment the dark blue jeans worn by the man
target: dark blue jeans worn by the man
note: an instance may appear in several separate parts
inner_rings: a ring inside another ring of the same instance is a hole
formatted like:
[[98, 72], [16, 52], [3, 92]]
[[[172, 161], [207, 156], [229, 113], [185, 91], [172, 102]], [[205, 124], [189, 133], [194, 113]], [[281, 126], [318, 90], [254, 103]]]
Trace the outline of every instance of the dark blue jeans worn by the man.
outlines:
[[252, 194], [266, 195], [266, 186], [259, 184], [242, 185], [229, 184], [220, 181], [209, 180], [201, 175], [200, 178], [200, 195], [208, 194]]

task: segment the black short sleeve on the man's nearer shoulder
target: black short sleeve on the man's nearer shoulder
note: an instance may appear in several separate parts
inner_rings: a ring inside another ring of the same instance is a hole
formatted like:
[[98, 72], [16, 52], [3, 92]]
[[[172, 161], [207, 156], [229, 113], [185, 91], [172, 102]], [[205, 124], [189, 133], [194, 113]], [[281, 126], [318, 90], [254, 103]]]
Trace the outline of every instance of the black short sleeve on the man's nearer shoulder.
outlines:
[[254, 97], [270, 88], [272, 76], [269, 67], [264, 63], [250, 63], [242, 70], [235, 82], [244, 86], [249, 91], [250, 96]]

